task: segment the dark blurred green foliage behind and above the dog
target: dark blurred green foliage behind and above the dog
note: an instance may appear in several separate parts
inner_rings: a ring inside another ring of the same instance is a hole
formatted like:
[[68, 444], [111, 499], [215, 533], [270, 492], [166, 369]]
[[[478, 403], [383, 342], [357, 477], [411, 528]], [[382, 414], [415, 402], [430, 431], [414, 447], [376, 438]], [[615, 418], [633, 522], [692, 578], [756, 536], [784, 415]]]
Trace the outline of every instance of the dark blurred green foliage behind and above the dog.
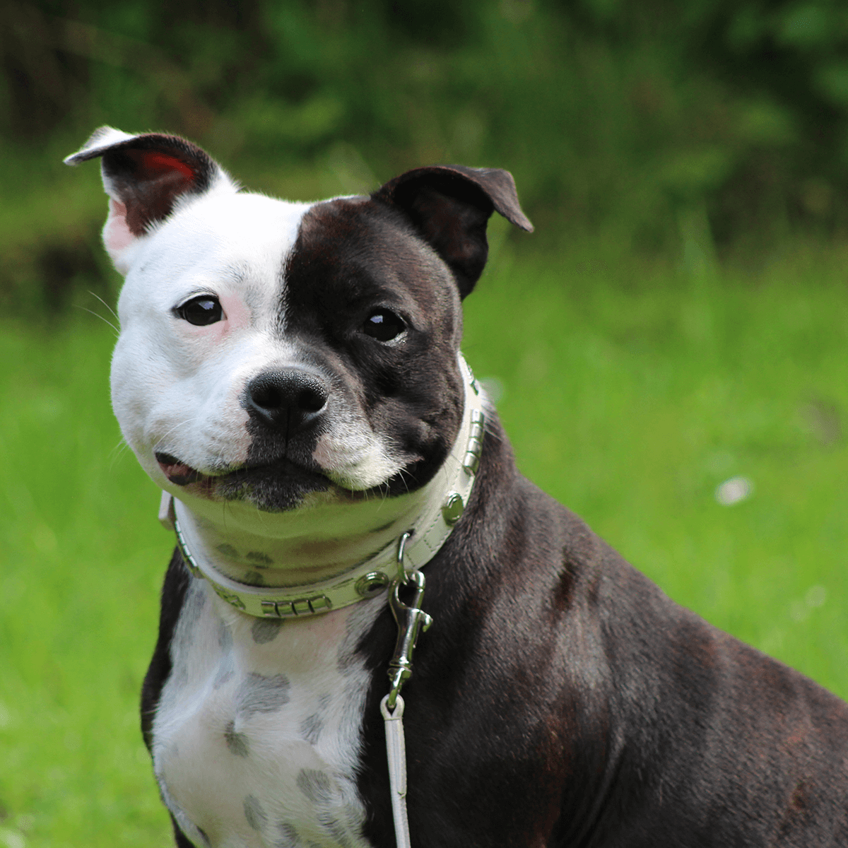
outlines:
[[103, 123], [298, 198], [499, 165], [536, 244], [614, 232], [695, 270], [848, 230], [837, 0], [7, 0], [0, 69], [7, 301], [103, 288], [103, 198], [59, 165]]

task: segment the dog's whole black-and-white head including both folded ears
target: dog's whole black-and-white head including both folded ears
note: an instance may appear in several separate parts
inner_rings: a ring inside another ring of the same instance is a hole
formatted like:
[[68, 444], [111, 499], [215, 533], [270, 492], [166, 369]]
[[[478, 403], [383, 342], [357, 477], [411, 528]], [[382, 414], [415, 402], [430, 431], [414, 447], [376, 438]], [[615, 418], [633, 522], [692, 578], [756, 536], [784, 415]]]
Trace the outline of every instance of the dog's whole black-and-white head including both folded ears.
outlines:
[[107, 127], [103, 241], [126, 275], [112, 400], [150, 477], [260, 510], [427, 483], [460, 424], [460, 300], [504, 170], [410, 170], [371, 197], [239, 191], [181, 138]]

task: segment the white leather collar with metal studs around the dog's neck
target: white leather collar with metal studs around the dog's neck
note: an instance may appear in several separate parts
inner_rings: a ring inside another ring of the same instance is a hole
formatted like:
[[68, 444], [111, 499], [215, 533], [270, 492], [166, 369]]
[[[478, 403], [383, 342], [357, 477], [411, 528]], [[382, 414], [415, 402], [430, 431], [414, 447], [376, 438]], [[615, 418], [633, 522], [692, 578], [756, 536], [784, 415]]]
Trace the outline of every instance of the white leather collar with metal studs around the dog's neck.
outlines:
[[447, 473], [443, 475], [443, 497], [427, 500], [408, 533], [376, 555], [318, 583], [280, 588], [251, 586], [227, 577], [212, 562], [189, 549], [176, 515], [174, 497], [163, 492], [159, 521], [176, 533], [176, 544], [192, 575], [208, 580], [221, 599], [248, 615], [294, 618], [338, 610], [370, 598], [388, 587], [399, 567], [411, 572], [426, 566], [445, 543], [468, 503], [483, 449], [483, 399], [466, 360], [458, 355], [465, 386], [465, 410], [454, 447], [444, 461]]

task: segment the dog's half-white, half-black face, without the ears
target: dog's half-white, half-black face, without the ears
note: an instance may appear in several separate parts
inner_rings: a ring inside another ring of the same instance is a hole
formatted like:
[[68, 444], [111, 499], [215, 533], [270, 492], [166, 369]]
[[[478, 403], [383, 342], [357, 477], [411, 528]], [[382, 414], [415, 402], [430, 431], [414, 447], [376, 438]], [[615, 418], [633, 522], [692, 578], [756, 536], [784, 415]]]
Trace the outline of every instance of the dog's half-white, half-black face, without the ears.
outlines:
[[459, 426], [459, 294], [397, 213], [214, 195], [148, 240], [112, 382], [157, 482], [263, 510], [426, 482]]

